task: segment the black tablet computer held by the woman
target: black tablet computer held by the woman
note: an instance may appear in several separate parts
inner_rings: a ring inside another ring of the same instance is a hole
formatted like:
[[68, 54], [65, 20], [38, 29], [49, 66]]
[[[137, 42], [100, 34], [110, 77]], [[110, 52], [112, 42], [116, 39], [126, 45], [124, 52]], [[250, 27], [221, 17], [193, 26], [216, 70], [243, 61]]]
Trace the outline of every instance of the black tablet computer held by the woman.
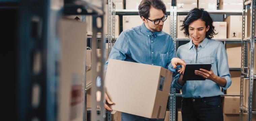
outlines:
[[205, 69], [210, 71], [212, 65], [211, 64], [186, 64], [186, 68], [183, 74], [183, 81], [188, 81], [188, 80], [206, 80], [205, 78], [196, 75], [195, 70], [199, 69]]

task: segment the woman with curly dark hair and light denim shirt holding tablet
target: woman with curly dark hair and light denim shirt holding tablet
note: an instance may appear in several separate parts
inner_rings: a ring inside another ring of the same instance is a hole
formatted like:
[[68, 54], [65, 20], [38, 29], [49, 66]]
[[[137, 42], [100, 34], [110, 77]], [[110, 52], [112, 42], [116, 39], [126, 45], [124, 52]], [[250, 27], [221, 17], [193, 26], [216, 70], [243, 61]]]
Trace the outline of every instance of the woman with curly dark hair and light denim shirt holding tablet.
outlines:
[[210, 71], [195, 70], [195, 74], [204, 77], [205, 81], [183, 81], [183, 74], [175, 76], [172, 87], [182, 89], [182, 120], [223, 121], [220, 87], [227, 89], [231, 78], [225, 47], [212, 39], [216, 34], [213, 19], [203, 8], [194, 8], [181, 27], [191, 40], [178, 48], [177, 56], [187, 64], [212, 64]]

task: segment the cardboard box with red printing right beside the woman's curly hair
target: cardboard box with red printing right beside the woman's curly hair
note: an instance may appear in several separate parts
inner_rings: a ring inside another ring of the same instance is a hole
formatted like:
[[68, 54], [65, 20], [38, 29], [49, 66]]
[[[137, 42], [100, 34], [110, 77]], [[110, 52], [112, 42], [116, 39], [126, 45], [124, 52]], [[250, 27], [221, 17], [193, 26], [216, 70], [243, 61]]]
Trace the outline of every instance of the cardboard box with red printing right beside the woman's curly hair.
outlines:
[[213, 22], [214, 29], [216, 30], [213, 39], [226, 39], [227, 38], [227, 22]]

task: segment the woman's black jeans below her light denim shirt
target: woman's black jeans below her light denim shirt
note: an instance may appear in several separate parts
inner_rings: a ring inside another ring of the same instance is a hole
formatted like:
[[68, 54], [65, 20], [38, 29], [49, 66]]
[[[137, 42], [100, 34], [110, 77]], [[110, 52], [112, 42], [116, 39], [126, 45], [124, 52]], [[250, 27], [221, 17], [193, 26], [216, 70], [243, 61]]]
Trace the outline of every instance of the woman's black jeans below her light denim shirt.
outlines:
[[182, 121], [223, 121], [221, 97], [183, 98]]

